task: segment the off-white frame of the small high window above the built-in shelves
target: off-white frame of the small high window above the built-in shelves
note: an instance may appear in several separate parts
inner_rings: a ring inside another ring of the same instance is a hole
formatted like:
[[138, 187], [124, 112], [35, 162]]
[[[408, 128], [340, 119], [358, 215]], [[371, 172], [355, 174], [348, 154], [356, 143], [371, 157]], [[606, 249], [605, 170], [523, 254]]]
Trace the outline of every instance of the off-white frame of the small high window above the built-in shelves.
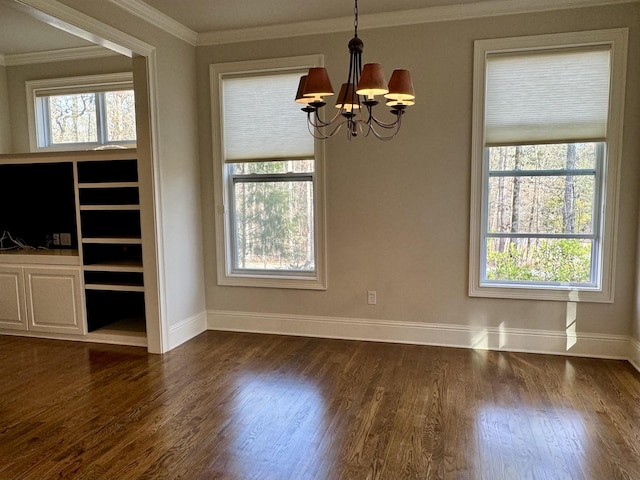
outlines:
[[[106, 108], [104, 94], [110, 91], [133, 90], [133, 73], [109, 73], [102, 75], [85, 75], [81, 77], [52, 78], [30, 80], [25, 83], [27, 96], [27, 121], [29, 131], [29, 148], [32, 152], [88, 150], [96, 148], [124, 147], [135, 148], [136, 141], [106, 142], [107, 126], [104, 122]], [[113, 87], [111, 90], [110, 87]], [[49, 118], [39, 112], [47, 112], [48, 102], [43, 100], [55, 95], [74, 95], [81, 93], [96, 94], [96, 128], [97, 142], [78, 142], [51, 144]], [[44, 108], [39, 104], [43, 104]], [[41, 146], [43, 145], [43, 146]]]

